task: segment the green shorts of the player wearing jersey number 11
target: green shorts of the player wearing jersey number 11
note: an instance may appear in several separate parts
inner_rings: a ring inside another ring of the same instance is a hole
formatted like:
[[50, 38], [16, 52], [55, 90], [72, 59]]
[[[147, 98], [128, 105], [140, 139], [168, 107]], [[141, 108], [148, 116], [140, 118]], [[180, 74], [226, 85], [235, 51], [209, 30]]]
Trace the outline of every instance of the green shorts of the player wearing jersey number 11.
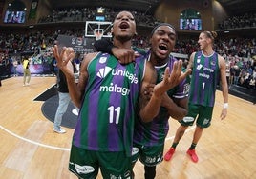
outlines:
[[79, 178], [96, 178], [100, 168], [102, 177], [133, 178], [132, 160], [124, 151], [93, 151], [72, 146], [69, 170]]

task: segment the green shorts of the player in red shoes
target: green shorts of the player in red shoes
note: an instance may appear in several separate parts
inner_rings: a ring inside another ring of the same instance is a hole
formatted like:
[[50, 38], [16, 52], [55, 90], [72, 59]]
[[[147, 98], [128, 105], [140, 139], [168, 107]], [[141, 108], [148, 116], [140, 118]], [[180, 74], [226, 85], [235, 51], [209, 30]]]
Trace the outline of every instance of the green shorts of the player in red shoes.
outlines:
[[192, 126], [197, 120], [197, 126], [208, 128], [211, 125], [213, 107], [188, 104], [188, 113], [179, 122], [183, 126]]

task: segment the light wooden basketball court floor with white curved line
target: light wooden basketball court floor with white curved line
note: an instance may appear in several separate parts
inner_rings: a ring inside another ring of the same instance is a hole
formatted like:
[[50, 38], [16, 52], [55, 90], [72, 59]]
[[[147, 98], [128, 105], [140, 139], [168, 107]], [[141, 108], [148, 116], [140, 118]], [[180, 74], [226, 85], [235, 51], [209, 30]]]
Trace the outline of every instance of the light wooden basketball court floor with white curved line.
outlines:
[[[1, 179], [73, 179], [68, 170], [74, 129], [66, 134], [53, 132], [53, 123], [41, 112], [43, 102], [33, 101], [53, 86], [54, 77], [32, 77], [29, 87], [22, 77], [2, 81], [0, 87], [0, 178]], [[204, 129], [197, 152], [199, 162], [190, 161], [194, 127], [187, 130], [170, 162], [157, 167], [157, 179], [246, 179], [256, 178], [256, 105], [229, 95], [228, 116], [219, 119], [223, 105], [217, 91], [212, 126]], [[165, 149], [170, 147], [178, 122], [171, 129]], [[136, 178], [143, 178], [143, 166], [137, 163]], [[100, 174], [99, 174], [99, 177]]]

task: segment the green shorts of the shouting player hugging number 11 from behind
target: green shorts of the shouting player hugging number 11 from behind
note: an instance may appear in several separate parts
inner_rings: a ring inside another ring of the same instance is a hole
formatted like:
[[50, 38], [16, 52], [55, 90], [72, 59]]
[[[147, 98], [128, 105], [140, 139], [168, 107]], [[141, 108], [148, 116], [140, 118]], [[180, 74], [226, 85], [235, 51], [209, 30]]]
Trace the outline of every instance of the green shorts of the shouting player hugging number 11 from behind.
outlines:
[[162, 161], [164, 144], [160, 146], [145, 147], [134, 144], [132, 161], [133, 164], [139, 161], [145, 166], [156, 166]]

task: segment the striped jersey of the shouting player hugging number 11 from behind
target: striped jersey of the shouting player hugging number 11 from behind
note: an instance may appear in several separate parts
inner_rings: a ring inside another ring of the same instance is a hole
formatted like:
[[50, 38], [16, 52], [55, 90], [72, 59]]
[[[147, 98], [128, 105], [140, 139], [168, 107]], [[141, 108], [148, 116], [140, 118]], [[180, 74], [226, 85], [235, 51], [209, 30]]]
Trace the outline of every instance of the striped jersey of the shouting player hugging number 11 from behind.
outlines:
[[[168, 63], [161, 67], [155, 67], [158, 73], [157, 83], [162, 81], [164, 70], [166, 67], [170, 68], [170, 71], [173, 69], [173, 63], [177, 61], [174, 57], [170, 56]], [[185, 98], [188, 96], [189, 84], [186, 80], [183, 80], [178, 86], [167, 91], [168, 96], [171, 98]], [[139, 113], [139, 112], [138, 112]], [[169, 119], [170, 115], [168, 114], [167, 109], [160, 107], [159, 114], [153, 119], [152, 122], [143, 123], [137, 115], [135, 121], [135, 134], [134, 134], [134, 143], [140, 144], [142, 146], [160, 146], [164, 144], [165, 137], [169, 130]]]

